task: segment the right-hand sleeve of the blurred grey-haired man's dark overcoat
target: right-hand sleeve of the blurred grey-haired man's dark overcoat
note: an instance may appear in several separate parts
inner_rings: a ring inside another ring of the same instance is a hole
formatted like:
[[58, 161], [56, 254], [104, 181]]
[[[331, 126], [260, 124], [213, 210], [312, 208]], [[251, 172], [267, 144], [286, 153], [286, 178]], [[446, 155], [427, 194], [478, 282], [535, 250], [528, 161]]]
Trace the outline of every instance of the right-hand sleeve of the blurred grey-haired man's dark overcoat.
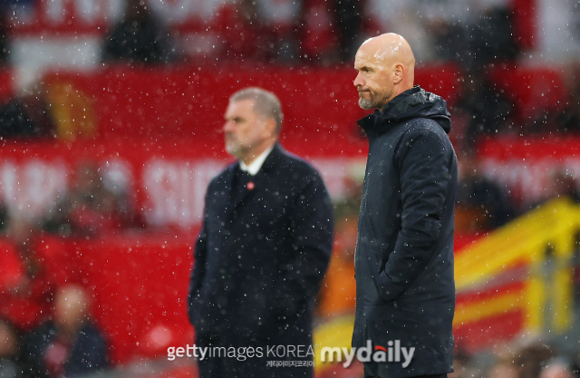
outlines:
[[293, 262], [281, 271], [280, 315], [292, 315], [314, 299], [333, 248], [333, 205], [323, 179], [314, 174], [301, 190], [291, 211]]

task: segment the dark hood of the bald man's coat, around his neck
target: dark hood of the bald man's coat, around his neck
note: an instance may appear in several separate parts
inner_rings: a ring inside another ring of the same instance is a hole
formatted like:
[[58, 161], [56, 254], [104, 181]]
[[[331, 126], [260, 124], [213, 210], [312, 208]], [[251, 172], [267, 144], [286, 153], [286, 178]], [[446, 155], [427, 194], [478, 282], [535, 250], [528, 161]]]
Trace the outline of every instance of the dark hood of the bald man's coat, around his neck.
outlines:
[[401, 121], [427, 118], [440, 124], [445, 132], [451, 130], [451, 115], [447, 102], [435, 93], [425, 92], [419, 85], [402, 92], [387, 103], [382, 111], [375, 110], [358, 123], [367, 131], [372, 128], [382, 134]]

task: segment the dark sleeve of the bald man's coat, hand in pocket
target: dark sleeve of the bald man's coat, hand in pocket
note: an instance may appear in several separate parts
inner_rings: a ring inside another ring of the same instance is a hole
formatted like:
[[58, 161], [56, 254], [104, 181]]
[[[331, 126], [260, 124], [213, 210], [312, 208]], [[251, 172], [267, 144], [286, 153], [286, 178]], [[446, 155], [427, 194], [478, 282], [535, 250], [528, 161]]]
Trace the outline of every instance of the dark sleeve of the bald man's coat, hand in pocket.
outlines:
[[407, 133], [395, 165], [401, 178], [401, 231], [378, 284], [385, 300], [401, 296], [430, 261], [440, 237], [447, 195], [450, 150], [427, 129]]

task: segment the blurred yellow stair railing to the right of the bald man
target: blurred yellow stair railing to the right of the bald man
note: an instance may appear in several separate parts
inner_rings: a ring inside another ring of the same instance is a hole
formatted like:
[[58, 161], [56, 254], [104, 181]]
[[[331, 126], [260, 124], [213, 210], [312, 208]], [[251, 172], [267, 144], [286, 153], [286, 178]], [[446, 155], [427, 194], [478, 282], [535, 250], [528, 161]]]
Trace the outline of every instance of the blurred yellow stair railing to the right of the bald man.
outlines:
[[[565, 330], [573, 318], [571, 259], [579, 230], [580, 206], [569, 199], [554, 199], [529, 211], [459, 251], [455, 258], [458, 292], [484, 286], [495, 276], [524, 264], [529, 272], [523, 301], [527, 329], [539, 331], [544, 327], [549, 294], [552, 326], [555, 331]], [[544, 272], [548, 250], [554, 258], [552, 275]], [[474, 314], [472, 320], [483, 317]]]

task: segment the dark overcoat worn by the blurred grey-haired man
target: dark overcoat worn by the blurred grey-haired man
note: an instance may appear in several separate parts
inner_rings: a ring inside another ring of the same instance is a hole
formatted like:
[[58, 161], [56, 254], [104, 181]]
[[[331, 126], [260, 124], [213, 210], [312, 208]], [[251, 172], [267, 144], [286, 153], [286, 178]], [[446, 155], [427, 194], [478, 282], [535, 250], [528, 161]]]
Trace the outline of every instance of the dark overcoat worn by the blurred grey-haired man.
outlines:
[[[333, 246], [323, 179], [276, 143], [240, 196], [238, 163], [208, 186], [195, 245], [189, 318], [227, 344], [312, 343], [314, 297]], [[295, 369], [295, 368], [291, 368]]]

